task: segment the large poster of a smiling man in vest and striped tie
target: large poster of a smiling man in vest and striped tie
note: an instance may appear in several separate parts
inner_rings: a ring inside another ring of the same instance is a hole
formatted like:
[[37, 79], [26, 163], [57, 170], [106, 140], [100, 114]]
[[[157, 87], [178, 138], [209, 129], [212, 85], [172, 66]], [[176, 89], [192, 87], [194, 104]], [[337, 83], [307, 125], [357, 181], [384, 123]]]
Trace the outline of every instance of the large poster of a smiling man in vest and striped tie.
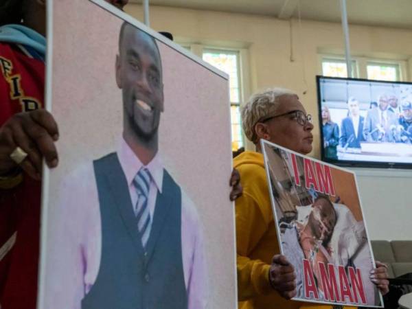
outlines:
[[227, 75], [102, 0], [47, 9], [38, 308], [236, 308]]

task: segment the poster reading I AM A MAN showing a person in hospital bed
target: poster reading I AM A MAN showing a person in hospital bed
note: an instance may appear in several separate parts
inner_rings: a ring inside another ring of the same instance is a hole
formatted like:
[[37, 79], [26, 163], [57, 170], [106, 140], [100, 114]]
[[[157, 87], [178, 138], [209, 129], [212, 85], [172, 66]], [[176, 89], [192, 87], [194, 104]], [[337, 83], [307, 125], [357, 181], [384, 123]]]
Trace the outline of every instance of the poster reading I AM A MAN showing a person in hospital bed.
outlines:
[[262, 140], [282, 254], [299, 301], [382, 307], [353, 172]]

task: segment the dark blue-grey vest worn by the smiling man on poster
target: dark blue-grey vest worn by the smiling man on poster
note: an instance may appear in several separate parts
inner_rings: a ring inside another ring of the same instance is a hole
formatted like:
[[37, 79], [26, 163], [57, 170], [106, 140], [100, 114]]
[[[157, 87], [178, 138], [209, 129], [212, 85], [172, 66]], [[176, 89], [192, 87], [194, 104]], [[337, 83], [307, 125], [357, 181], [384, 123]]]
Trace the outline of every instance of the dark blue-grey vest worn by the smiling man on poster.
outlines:
[[185, 309], [181, 190], [166, 170], [146, 250], [115, 153], [93, 161], [102, 218], [98, 277], [82, 309]]

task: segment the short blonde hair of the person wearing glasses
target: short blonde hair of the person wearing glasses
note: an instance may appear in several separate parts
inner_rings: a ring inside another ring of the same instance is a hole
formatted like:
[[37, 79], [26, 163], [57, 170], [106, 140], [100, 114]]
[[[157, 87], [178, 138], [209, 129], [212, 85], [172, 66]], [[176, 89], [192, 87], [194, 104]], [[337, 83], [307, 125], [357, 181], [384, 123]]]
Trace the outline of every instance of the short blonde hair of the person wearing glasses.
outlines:
[[297, 95], [294, 91], [283, 88], [271, 88], [255, 93], [242, 106], [242, 127], [244, 135], [254, 144], [258, 142], [255, 125], [260, 119], [275, 115], [279, 108], [279, 98], [283, 95]]

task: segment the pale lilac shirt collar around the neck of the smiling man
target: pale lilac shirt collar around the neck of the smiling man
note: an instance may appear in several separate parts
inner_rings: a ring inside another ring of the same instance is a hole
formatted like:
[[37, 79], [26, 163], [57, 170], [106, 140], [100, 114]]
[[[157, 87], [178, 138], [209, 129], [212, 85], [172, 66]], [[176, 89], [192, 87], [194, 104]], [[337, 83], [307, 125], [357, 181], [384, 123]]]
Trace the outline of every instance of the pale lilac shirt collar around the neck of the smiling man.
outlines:
[[163, 163], [159, 152], [157, 152], [148, 165], [144, 166], [137, 155], [135, 155], [135, 152], [133, 152], [124, 138], [122, 138], [117, 146], [117, 156], [119, 157], [120, 165], [122, 165], [122, 170], [126, 176], [129, 186], [133, 185], [133, 179], [135, 179], [137, 172], [139, 172], [141, 168], [147, 168], [152, 176], [152, 181], [155, 183], [157, 190], [161, 193], [163, 182]]

